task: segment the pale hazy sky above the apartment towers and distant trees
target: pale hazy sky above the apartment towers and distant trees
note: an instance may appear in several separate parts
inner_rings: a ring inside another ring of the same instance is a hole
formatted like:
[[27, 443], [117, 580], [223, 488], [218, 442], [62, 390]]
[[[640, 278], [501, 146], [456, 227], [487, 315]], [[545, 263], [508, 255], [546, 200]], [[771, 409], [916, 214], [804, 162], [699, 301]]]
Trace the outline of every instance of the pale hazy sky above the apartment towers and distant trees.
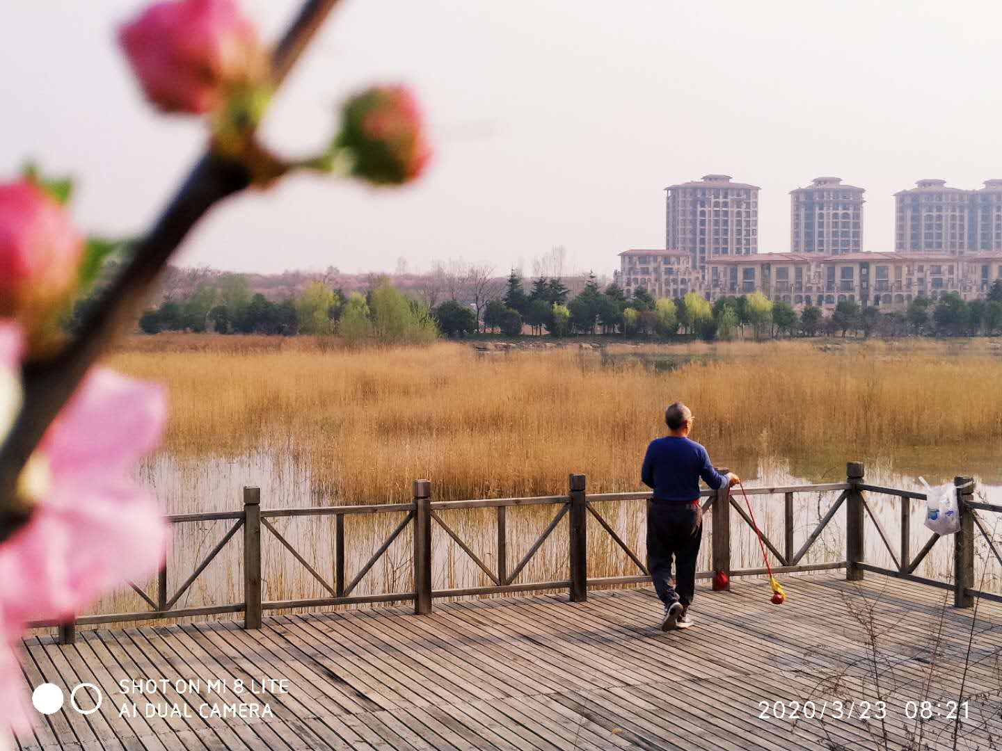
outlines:
[[[0, 174], [27, 156], [79, 178], [74, 212], [142, 230], [203, 142], [154, 113], [114, 43], [141, 0], [4, 0]], [[243, 0], [269, 39], [295, 0]], [[762, 187], [761, 251], [790, 248], [790, 196], [818, 175], [867, 189], [864, 245], [893, 249], [893, 198], [923, 177], [1002, 177], [1002, 3], [345, 0], [270, 115], [318, 147], [347, 92], [415, 88], [437, 149], [425, 179], [374, 191], [311, 176], [230, 200], [179, 260], [238, 270], [393, 270], [553, 245], [608, 273], [664, 246], [665, 185]]]

